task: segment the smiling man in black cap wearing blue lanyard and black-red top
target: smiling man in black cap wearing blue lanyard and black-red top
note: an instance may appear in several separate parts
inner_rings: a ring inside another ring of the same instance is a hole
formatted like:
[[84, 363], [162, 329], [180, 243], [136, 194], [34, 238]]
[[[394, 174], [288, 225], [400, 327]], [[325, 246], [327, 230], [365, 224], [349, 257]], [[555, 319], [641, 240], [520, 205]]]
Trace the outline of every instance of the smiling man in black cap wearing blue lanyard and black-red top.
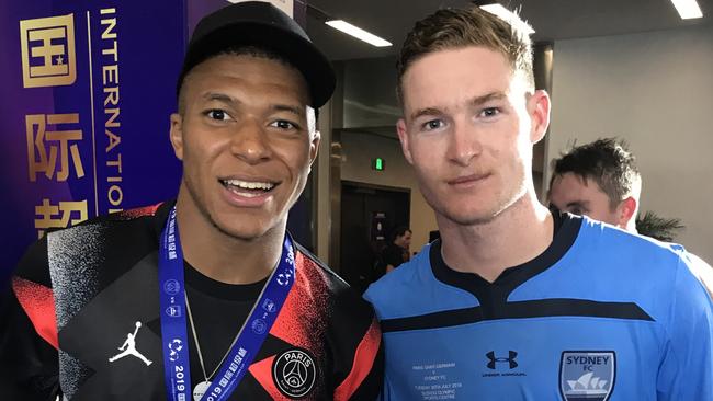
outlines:
[[276, 8], [204, 18], [171, 116], [178, 199], [30, 249], [0, 317], [0, 399], [374, 399], [373, 310], [285, 230], [333, 87]]

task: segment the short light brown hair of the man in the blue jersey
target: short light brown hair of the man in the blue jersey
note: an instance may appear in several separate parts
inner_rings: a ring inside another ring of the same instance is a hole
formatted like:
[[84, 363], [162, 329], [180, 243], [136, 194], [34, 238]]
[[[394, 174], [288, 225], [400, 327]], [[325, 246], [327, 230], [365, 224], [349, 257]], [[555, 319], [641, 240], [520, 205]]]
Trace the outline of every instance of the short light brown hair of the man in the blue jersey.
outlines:
[[468, 46], [501, 53], [512, 72], [522, 73], [528, 85], [534, 89], [532, 43], [530, 36], [516, 25], [478, 7], [466, 10], [442, 9], [418, 21], [406, 36], [396, 61], [396, 92], [399, 102], [404, 102], [401, 79], [411, 64], [434, 51]]

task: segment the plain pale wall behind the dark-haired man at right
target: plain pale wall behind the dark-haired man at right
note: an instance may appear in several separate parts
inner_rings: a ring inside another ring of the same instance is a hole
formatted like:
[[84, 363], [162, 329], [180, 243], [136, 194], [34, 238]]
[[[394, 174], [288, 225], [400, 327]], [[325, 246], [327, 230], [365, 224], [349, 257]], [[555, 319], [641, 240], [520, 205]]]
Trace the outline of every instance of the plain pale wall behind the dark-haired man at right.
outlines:
[[681, 218], [712, 263], [713, 26], [555, 43], [547, 160], [608, 136], [637, 158], [642, 210]]

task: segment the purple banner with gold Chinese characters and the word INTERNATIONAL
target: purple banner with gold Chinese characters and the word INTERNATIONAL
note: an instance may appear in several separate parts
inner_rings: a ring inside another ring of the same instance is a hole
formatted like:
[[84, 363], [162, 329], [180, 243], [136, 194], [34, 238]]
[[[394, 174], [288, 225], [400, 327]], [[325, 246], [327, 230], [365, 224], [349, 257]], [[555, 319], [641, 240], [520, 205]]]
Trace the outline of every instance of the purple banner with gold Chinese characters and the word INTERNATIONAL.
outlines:
[[176, 196], [168, 130], [188, 3], [3, 4], [0, 284], [48, 231]]

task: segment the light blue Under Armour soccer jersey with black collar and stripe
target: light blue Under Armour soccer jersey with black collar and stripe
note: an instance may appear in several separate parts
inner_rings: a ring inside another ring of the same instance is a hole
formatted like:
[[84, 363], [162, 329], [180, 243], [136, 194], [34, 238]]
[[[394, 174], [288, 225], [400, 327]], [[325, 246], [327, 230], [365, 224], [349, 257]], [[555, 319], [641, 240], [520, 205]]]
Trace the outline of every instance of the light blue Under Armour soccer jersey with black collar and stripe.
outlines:
[[491, 284], [449, 268], [437, 241], [369, 288], [384, 400], [713, 400], [713, 306], [682, 248], [556, 225]]

